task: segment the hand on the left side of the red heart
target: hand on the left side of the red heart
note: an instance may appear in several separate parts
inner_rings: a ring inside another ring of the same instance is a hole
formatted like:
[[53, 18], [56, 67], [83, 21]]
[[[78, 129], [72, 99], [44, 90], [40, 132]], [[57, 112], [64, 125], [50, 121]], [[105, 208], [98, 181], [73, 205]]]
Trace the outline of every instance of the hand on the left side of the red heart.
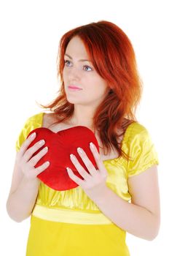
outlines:
[[[33, 133], [31, 135], [33, 135]], [[44, 154], [47, 154], [47, 148], [42, 148], [38, 154], [32, 157], [32, 155], [44, 145], [45, 141], [43, 143], [39, 143], [42, 141], [39, 140], [34, 144], [34, 146], [28, 148], [34, 138], [36, 138], [36, 135], [33, 137], [31, 137], [31, 135], [23, 142], [22, 146], [20, 147], [20, 151], [18, 152], [16, 158], [16, 165], [18, 169], [22, 171], [24, 178], [27, 180], [36, 180], [36, 176], [38, 176], [39, 173], [42, 173], [50, 165], [50, 162], [44, 162], [42, 165], [39, 165], [39, 167], [34, 167], [36, 163], [39, 162], [39, 159], [41, 159]]]

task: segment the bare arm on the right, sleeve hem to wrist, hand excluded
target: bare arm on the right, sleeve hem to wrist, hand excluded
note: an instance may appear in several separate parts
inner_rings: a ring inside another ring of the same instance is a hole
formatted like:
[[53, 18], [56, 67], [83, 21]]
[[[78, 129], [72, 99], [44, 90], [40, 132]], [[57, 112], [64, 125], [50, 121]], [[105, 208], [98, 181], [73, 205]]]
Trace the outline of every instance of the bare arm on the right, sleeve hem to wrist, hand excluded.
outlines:
[[160, 229], [160, 195], [157, 166], [128, 178], [131, 203], [123, 200], [106, 187], [95, 198], [103, 214], [128, 233], [153, 240]]

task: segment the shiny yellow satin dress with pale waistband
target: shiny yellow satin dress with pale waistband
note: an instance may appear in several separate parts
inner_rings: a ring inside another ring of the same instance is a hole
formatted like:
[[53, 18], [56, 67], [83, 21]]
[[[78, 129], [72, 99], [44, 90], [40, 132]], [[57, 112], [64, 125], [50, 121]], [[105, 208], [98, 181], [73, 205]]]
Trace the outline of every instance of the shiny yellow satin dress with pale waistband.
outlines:
[[[16, 141], [16, 150], [31, 130], [42, 127], [43, 112], [29, 117]], [[158, 164], [147, 129], [138, 123], [127, 127], [122, 149], [132, 157], [103, 161], [106, 184], [130, 203], [127, 178]], [[125, 213], [124, 213], [125, 217]], [[81, 187], [56, 191], [40, 183], [31, 214], [26, 256], [128, 256], [126, 231], [108, 219]]]

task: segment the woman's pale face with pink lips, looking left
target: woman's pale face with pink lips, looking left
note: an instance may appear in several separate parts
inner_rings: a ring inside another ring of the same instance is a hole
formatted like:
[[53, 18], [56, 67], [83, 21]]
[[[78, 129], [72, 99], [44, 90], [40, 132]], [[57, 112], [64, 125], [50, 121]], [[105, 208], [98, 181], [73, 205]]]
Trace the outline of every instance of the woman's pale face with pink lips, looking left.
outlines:
[[[63, 81], [68, 102], [76, 105], [99, 105], [109, 87], [95, 71], [82, 39], [73, 37], [68, 42], [64, 56]], [[69, 86], [77, 86], [80, 89], [71, 89]]]

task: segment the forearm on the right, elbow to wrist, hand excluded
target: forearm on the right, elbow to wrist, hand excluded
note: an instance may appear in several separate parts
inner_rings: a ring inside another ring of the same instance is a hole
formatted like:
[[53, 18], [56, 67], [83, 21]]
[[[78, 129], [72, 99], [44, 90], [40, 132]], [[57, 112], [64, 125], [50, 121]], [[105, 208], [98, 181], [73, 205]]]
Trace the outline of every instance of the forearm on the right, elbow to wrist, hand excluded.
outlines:
[[134, 236], [152, 240], [157, 236], [159, 224], [157, 217], [146, 208], [128, 203], [106, 187], [95, 200], [103, 214], [114, 224]]

